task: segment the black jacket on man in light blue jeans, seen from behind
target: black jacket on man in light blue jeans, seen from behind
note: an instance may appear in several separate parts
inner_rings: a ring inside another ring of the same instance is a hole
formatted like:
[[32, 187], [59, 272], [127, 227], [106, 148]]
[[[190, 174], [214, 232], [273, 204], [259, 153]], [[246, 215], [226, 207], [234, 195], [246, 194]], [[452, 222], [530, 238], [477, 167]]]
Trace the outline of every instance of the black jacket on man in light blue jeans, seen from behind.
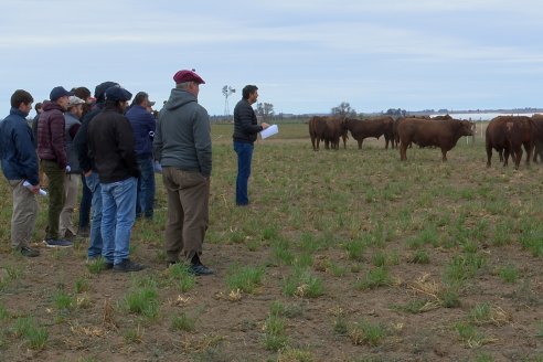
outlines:
[[88, 124], [88, 156], [102, 183], [138, 178], [132, 128], [115, 105], [106, 104]]

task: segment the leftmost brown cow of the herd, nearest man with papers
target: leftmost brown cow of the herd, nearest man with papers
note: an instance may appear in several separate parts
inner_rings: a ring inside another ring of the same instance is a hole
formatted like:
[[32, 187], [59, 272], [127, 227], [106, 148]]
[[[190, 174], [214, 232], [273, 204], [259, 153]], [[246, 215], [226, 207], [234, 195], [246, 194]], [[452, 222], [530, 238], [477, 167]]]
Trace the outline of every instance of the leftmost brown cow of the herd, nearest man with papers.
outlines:
[[347, 148], [347, 130], [341, 118], [315, 116], [309, 119], [309, 136], [313, 150], [319, 150], [319, 142], [324, 141], [324, 148], [331, 145], [332, 149], [339, 149], [339, 138], [343, 138], [343, 147]]

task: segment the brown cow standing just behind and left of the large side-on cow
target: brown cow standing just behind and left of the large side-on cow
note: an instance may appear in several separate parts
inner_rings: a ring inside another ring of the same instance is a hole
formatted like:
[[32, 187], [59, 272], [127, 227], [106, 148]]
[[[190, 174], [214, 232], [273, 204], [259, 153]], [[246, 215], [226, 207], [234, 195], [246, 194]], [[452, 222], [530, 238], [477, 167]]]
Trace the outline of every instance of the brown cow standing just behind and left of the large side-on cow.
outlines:
[[364, 138], [375, 137], [379, 139], [381, 136], [385, 138], [385, 149], [388, 149], [388, 141], [394, 141], [393, 126], [394, 120], [392, 117], [376, 117], [370, 119], [356, 119], [345, 118], [345, 128], [351, 131], [352, 138], [359, 143], [359, 149], [362, 149], [362, 142]]

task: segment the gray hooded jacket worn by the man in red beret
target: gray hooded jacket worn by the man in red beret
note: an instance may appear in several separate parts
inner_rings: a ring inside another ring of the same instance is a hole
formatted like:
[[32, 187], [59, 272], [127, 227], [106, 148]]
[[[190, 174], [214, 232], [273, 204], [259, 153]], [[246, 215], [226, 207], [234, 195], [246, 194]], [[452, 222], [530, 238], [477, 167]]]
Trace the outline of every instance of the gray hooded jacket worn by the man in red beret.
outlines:
[[211, 175], [210, 116], [192, 93], [171, 91], [159, 115], [153, 151], [162, 167]]

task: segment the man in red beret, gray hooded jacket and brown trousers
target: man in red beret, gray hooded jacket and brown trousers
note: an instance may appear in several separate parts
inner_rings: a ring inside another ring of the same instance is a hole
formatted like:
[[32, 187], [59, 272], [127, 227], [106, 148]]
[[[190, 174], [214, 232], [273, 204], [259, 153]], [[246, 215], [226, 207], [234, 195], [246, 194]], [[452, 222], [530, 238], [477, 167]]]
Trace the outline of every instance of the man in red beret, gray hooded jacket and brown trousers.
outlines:
[[211, 177], [210, 117], [198, 104], [200, 84], [205, 82], [192, 71], [179, 71], [173, 81], [175, 88], [160, 111], [153, 140], [168, 194], [166, 258], [168, 265], [175, 264], [182, 252], [190, 273], [210, 275], [213, 270], [200, 260]]

